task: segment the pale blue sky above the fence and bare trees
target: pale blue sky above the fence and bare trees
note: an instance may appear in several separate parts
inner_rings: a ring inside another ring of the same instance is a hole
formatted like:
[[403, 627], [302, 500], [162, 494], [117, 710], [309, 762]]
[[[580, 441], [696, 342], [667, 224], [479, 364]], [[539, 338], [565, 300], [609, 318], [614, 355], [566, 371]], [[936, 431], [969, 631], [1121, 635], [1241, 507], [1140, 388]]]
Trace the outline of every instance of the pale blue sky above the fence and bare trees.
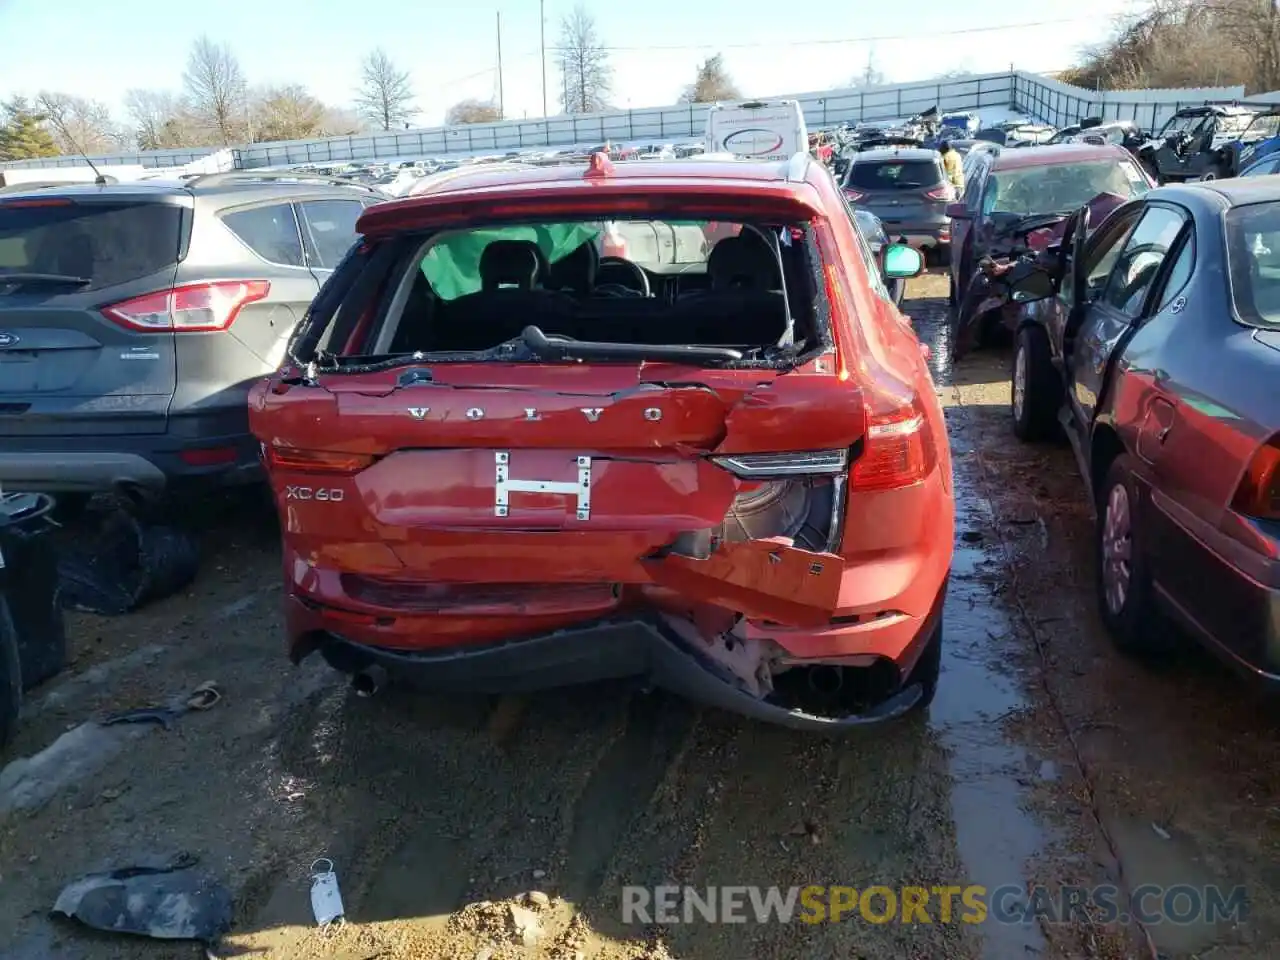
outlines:
[[[573, 0], [544, 3], [552, 46]], [[841, 86], [864, 69], [869, 52], [891, 81], [1010, 64], [1060, 69], [1105, 38], [1114, 18], [1135, 3], [586, 0], [586, 6], [604, 42], [618, 47], [613, 101], [639, 108], [673, 102], [696, 64], [717, 51], [750, 96]], [[507, 115], [539, 116], [539, 0], [0, 0], [0, 97], [52, 88], [122, 113], [132, 87], [178, 88], [192, 40], [207, 33], [232, 45], [250, 83], [301, 82], [339, 105], [352, 99], [361, 58], [381, 46], [412, 73], [419, 123], [430, 125], [458, 100], [495, 95], [498, 13]], [[1042, 26], [959, 32], [1033, 22]], [[552, 52], [547, 72], [556, 113]]]

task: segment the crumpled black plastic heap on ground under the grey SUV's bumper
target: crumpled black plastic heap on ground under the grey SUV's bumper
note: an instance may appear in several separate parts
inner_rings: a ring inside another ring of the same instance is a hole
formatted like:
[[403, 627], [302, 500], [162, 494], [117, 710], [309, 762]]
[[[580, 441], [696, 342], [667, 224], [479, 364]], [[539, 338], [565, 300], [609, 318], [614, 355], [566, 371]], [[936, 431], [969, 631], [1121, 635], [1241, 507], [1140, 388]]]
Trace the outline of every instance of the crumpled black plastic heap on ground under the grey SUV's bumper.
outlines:
[[116, 616], [182, 590], [200, 566], [195, 539], [174, 526], [108, 513], [95, 535], [78, 539], [58, 564], [63, 607]]

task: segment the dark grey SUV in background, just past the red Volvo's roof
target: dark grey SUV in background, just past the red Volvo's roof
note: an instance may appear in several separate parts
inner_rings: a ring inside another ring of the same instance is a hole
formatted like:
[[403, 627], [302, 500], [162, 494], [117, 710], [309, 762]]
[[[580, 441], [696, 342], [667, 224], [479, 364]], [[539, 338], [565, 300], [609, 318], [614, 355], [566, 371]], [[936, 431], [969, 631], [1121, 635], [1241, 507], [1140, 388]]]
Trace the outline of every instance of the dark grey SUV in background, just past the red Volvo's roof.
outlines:
[[869, 210], [895, 241], [945, 257], [951, 247], [947, 204], [955, 188], [936, 150], [873, 147], [850, 157], [841, 183], [855, 209]]

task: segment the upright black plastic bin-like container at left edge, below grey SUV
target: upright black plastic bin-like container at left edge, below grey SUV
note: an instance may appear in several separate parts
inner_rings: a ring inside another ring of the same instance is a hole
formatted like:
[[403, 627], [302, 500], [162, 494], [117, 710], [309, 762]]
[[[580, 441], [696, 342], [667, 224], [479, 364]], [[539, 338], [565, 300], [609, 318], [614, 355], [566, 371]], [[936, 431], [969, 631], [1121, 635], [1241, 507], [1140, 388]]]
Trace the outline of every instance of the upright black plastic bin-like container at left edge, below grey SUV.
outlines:
[[58, 553], [49, 534], [47, 494], [0, 497], [0, 594], [9, 605], [22, 686], [31, 690], [67, 666], [67, 628], [59, 602]]

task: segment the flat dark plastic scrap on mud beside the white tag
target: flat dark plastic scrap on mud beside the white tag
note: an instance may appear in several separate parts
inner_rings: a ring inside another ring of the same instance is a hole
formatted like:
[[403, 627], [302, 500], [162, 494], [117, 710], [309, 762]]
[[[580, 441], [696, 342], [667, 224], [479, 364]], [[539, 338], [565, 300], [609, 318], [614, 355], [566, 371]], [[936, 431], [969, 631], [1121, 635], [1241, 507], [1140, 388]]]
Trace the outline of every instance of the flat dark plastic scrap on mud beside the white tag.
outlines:
[[63, 887], [52, 911], [109, 933], [214, 943], [232, 927], [232, 895], [196, 863], [179, 854], [160, 865], [87, 874]]

